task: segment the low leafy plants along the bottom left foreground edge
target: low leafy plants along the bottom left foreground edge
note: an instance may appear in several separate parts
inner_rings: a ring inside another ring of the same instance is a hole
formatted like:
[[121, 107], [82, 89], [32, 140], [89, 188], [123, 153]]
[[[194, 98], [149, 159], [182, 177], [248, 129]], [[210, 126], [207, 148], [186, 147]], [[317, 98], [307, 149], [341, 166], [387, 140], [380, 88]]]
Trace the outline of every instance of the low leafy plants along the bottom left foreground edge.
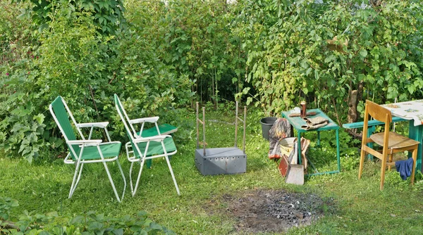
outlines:
[[1, 234], [175, 234], [149, 220], [143, 211], [135, 216], [114, 218], [97, 215], [93, 211], [68, 217], [57, 212], [38, 214], [25, 210], [18, 216], [17, 222], [11, 222], [11, 208], [17, 206], [16, 200], [0, 197]]

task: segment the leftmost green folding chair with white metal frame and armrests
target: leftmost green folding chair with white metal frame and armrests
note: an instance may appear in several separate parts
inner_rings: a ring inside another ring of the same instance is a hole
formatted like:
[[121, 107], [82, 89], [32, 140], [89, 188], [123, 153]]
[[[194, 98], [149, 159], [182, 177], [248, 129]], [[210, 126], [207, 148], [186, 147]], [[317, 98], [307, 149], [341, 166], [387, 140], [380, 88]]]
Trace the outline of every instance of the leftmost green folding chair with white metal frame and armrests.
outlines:
[[[119, 202], [123, 200], [126, 188], [126, 179], [123, 174], [121, 164], [118, 161], [118, 155], [121, 151], [121, 142], [110, 141], [109, 132], [107, 132], [106, 126], [109, 122], [90, 122], [90, 123], [77, 123], [75, 118], [69, 110], [68, 105], [61, 96], [57, 98], [49, 106], [51, 115], [56, 121], [61, 133], [65, 137], [66, 144], [68, 145], [69, 153], [66, 156], [64, 163], [75, 165], [75, 174], [73, 175], [73, 181], [71, 185], [71, 191], [69, 191], [69, 197], [73, 196], [76, 186], [80, 182], [82, 168], [86, 163], [103, 163], [106, 168], [107, 176], [109, 177], [111, 186], [114, 190], [116, 199]], [[69, 120], [71, 119], [71, 120]], [[71, 122], [72, 121], [72, 122]], [[89, 139], [85, 139], [80, 128], [91, 127]], [[91, 139], [92, 129], [94, 127], [104, 128], [109, 142], [102, 143], [101, 139]], [[75, 132], [76, 129], [76, 132]], [[77, 139], [78, 136], [78, 139]], [[113, 179], [111, 178], [109, 168], [106, 163], [116, 161], [116, 164], [121, 171], [124, 186], [121, 198], [119, 198], [116, 186], [114, 185]]]

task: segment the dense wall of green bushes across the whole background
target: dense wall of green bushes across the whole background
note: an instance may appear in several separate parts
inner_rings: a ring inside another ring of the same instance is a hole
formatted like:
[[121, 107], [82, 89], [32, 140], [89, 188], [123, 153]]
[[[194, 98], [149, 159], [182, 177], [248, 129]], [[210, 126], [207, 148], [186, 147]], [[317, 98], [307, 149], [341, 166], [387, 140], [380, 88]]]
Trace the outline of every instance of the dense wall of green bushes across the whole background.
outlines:
[[304, 99], [341, 124], [365, 99], [423, 96], [421, 1], [11, 2], [0, 2], [0, 148], [29, 161], [63, 150], [47, 111], [58, 95], [122, 141], [115, 93], [130, 117], [186, 127], [180, 140], [191, 127], [176, 109], [195, 97], [266, 115]]

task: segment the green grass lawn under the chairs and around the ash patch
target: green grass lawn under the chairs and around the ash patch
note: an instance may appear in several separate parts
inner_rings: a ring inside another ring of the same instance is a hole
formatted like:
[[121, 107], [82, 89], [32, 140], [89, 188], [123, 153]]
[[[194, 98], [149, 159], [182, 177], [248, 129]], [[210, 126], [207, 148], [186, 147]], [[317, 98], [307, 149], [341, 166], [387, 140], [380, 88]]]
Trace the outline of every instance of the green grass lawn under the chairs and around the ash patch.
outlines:
[[[207, 143], [209, 148], [233, 146], [233, 115], [207, 110]], [[195, 129], [194, 113], [190, 113]], [[180, 187], [178, 196], [164, 159], [153, 161], [152, 169], [144, 169], [137, 194], [130, 196], [127, 186], [123, 203], [118, 203], [111, 190], [104, 167], [86, 165], [80, 185], [73, 198], [68, 199], [74, 167], [62, 160], [53, 163], [28, 164], [25, 160], [0, 158], [0, 196], [19, 201], [15, 215], [23, 210], [57, 211], [59, 215], [78, 215], [95, 210], [107, 216], [134, 215], [140, 210], [177, 234], [235, 234], [235, 218], [223, 212], [226, 208], [221, 196], [238, 196], [255, 189], [286, 189], [316, 193], [332, 197], [334, 208], [327, 208], [325, 216], [308, 227], [293, 228], [288, 234], [420, 234], [423, 220], [423, 183], [410, 186], [410, 179], [402, 181], [395, 171], [388, 172], [384, 191], [379, 191], [379, 164], [366, 163], [361, 180], [357, 179], [357, 148], [348, 146], [341, 133], [341, 174], [321, 175], [306, 179], [304, 186], [284, 183], [275, 163], [267, 158], [269, 144], [262, 139], [259, 116], [250, 114], [247, 120], [247, 172], [245, 174], [202, 176], [194, 164], [195, 131], [185, 143], [177, 144], [178, 153], [171, 164]], [[242, 129], [240, 132], [242, 133]], [[242, 146], [239, 134], [238, 146]], [[319, 170], [336, 168], [334, 134], [322, 133], [321, 147], [312, 140], [310, 157]], [[329, 143], [329, 144], [328, 144]], [[332, 144], [331, 144], [332, 143]], [[123, 170], [128, 179], [129, 163], [121, 155]], [[118, 190], [123, 187], [116, 165], [109, 169]]]

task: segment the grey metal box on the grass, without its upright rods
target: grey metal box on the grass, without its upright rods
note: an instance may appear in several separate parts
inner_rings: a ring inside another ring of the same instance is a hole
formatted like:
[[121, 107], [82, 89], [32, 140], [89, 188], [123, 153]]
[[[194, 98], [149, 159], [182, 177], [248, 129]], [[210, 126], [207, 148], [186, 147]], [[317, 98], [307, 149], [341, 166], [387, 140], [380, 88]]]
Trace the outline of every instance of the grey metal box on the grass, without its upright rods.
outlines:
[[247, 171], [247, 155], [239, 148], [202, 148], [195, 150], [195, 166], [202, 175], [238, 174]]

